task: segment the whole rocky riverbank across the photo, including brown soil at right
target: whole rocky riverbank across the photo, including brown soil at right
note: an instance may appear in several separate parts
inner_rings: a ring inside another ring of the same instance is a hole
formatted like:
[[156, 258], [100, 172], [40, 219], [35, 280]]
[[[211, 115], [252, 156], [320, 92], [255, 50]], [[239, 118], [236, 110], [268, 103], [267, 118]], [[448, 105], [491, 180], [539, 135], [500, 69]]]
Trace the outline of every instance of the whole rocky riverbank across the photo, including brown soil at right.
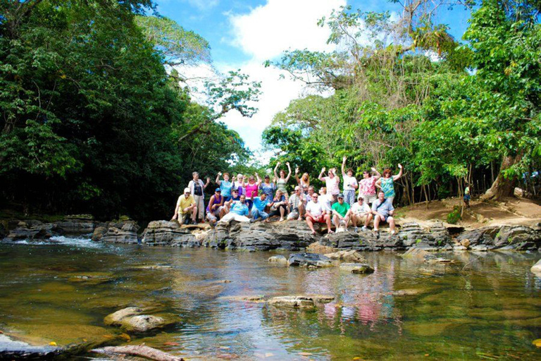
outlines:
[[[141, 228], [125, 217], [101, 222], [92, 215], [71, 215], [54, 222], [4, 220], [0, 239], [4, 241], [46, 240], [58, 236], [82, 236], [94, 242], [140, 243], [163, 247], [211, 247], [239, 250], [304, 250], [312, 243], [336, 249], [362, 251], [407, 250], [541, 250], [541, 207], [530, 200], [472, 202], [471, 209], [457, 224], [442, 221], [459, 200], [443, 200], [397, 209], [397, 235], [386, 228], [380, 233], [354, 231], [328, 234], [326, 226], [312, 235], [304, 221], [271, 221], [243, 224], [218, 223], [180, 226], [176, 221], [151, 221]], [[320, 226], [320, 225], [317, 225]]]

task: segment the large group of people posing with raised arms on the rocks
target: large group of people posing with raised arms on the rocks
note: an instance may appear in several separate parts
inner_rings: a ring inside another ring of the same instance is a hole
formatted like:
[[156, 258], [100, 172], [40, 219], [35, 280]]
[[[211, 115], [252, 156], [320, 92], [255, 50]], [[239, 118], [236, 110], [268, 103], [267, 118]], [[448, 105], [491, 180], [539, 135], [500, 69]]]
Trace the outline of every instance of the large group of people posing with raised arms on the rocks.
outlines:
[[[342, 190], [340, 190], [340, 176], [335, 168], [321, 169], [318, 179], [325, 183], [325, 187], [316, 189], [310, 184], [308, 173], [299, 177], [299, 168], [295, 169], [294, 177], [297, 185], [291, 195], [287, 193], [287, 183], [290, 181], [291, 166], [287, 162], [287, 173], [278, 171], [280, 162], [274, 169], [274, 178], [266, 175], [263, 179], [258, 173], [254, 176], [230, 178], [229, 173], [219, 172], [216, 176], [218, 188], [214, 190], [209, 202], [205, 206], [204, 190], [209, 186], [211, 179], [206, 183], [199, 179], [199, 173], [192, 173], [193, 179], [188, 183], [184, 194], [178, 198], [173, 219], [181, 224], [197, 224], [197, 219], [206, 219], [211, 226], [216, 222], [264, 221], [268, 222], [272, 216], [280, 216], [279, 221], [285, 219], [304, 219], [312, 233], [316, 233], [313, 225], [327, 224], [329, 233], [332, 233], [332, 224], [336, 228], [347, 228], [349, 224], [355, 231], [363, 225], [363, 230], [373, 221], [373, 230], [378, 232], [379, 225], [388, 223], [391, 234], [395, 233], [394, 219], [394, 181], [402, 176], [404, 171], [398, 165], [399, 173], [392, 175], [390, 169], [380, 174], [375, 168], [364, 171], [362, 178], [357, 181], [353, 169], [345, 169], [347, 157], [342, 159]], [[378, 191], [377, 191], [378, 189]]]

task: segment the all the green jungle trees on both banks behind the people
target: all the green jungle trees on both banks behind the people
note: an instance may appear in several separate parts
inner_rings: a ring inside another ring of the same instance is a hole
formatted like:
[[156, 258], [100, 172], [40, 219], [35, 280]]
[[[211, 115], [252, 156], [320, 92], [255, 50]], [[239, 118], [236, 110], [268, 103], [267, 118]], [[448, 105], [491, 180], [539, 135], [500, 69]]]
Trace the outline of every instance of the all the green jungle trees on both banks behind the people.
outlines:
[[[391, 1], [399, 19], [349, 7], [321, 19], [337, 51], [267, 62], [331, 94], [275, 116], [270, 166], [315, 178], [344, 155], [358, 176], [402, 163], [400, 204], [466, 182], [487, 199], [516, 185], [538, 195], [541, 2]], [[471, 9], [463, 39], [435, 20], [449, 4]], [[163, 219], [193, 170], [252, 171], [220, 116], [254, 114], [259, 83], [223, 75], [203, 106], [173, 68], [211, 61], [208, 42], [151, 0], [0, 0], [1, 206]]]

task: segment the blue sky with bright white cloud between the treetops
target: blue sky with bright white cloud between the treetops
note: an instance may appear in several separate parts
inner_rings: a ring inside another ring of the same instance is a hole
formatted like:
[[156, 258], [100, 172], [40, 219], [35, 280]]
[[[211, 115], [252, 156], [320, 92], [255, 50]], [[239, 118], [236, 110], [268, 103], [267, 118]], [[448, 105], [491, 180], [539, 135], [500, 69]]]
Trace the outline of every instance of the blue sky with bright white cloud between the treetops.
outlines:
[[[332, 50], [325, 44], [328, 30], [316, 22], [333, 8], [351, 5], [362, 11], [399, 13], [400, 6], [385, 0], [157, 0], [158, 12], [187, 30], [203, 36], [211, 45], [213, 64], [219, 71], [241, 68], [262, 82], [259, 113], [242, 118], [230, 112], [222, 120], [237, 130], [254, 151], [261, 149], [261, 132], [274, 114], [285, 109], [292, 99], [305, 96], [299, 82], [280, 80], [280, 72], [264, 68], [262, 62], [275, 59], [286, 49]], [[468, 27], [469, 13], [460, 6], [452, 11], [440, 8], [437, 21], [447, 24], [451, 34], [461, 39]], [[192, 69], [204, 76], [208, 68]]]

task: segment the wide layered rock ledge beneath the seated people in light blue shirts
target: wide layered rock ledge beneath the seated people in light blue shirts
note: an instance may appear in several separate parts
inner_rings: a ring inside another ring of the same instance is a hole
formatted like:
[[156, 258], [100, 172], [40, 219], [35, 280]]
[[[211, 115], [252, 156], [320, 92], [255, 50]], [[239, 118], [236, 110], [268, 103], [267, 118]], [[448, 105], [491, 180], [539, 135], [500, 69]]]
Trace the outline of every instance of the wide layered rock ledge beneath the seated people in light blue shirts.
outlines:
[[203, 245], [213, 248], [244, 250], [301, 250], [313, 242], [311, 231], [305, 222], [255, 224], [232, 221], [218, 222], [216, 228], [206, 233]]

